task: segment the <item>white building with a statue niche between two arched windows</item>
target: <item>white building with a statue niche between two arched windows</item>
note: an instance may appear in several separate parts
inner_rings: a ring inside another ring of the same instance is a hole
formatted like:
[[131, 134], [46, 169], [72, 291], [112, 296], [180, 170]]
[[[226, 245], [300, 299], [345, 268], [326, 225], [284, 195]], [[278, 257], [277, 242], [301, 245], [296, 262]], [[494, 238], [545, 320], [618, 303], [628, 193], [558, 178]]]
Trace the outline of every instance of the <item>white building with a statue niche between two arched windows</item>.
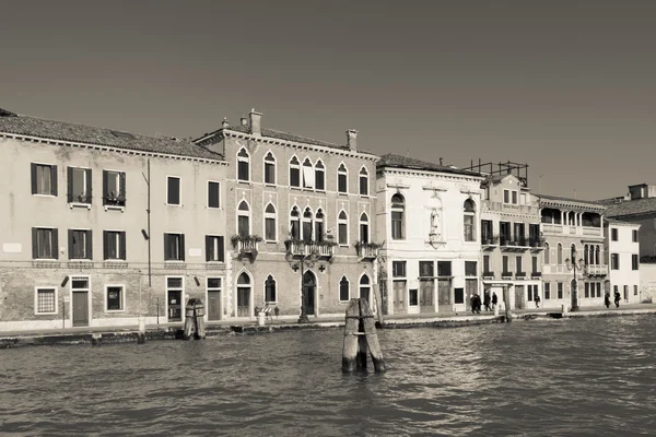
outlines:
[[387, 154], [377, 164], [387, 314], [454, 312], [481, 294], [478, 173]]

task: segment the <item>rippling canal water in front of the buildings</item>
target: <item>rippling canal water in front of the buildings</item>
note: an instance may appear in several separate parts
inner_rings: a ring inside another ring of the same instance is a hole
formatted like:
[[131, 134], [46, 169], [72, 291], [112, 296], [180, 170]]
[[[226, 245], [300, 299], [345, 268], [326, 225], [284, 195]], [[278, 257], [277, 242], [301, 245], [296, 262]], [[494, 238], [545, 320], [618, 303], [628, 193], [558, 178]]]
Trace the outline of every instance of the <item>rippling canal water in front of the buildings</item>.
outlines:
[[378, 332], [382, 375], [341, 329], [0, 351], [0, 435], [656, 434], [654, 316]]

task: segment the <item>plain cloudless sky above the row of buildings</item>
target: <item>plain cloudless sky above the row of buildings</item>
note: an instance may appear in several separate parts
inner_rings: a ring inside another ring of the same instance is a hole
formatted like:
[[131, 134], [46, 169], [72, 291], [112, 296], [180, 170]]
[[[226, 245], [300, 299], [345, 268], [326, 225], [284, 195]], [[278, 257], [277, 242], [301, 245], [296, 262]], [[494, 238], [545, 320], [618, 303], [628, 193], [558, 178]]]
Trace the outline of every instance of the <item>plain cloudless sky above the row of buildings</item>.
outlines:
[[536, 192], [653, 182], [654, 1], [0, 0], [0, 107], [200, 137], [262, 127], [376, 154], [529, 165]]

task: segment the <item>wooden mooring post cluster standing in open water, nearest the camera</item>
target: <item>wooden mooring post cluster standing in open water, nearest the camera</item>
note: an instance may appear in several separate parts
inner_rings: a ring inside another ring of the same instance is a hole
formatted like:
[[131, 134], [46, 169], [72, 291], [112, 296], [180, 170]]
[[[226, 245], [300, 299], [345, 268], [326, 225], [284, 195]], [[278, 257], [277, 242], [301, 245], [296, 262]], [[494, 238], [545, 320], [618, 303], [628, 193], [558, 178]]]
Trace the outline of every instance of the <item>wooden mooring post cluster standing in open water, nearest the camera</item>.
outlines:
[[364, 297], [351, 299], [347, 308], [344, 345], [342, 349], [342, 371], [352, 373], [366, 368], [366, 353], [372, 355], [374, 369], [385, 371], [383, 353], [376, 334], [376, 322]]

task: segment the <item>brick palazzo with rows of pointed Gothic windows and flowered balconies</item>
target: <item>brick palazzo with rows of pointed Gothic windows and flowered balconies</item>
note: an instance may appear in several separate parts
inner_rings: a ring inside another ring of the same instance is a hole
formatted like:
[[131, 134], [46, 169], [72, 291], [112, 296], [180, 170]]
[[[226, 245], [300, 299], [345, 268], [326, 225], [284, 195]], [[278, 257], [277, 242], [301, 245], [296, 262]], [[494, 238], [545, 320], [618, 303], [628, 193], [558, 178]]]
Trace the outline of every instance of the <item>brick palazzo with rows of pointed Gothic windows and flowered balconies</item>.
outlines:
[[358, 132], [338, 145], [262, 128], [253, 110], [195, 142], [225, 156], [232, 262], [230, 317], [270, 307], [281, 318], [343, 315], [350, 298], [375, 308], [377, 156]]

